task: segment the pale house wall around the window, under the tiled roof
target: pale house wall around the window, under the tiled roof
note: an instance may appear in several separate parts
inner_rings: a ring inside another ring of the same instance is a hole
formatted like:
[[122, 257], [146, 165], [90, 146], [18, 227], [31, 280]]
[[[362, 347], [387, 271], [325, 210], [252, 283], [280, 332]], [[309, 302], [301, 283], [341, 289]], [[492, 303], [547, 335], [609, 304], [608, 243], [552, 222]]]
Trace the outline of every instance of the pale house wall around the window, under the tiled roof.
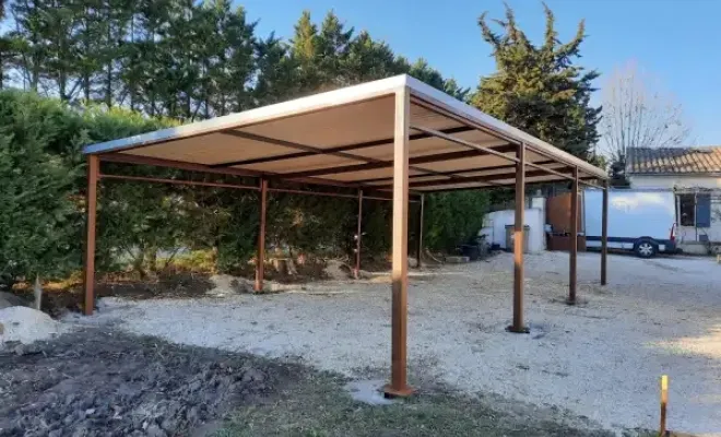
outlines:
[[[721, 243], [721, 177], [690, 176], [629, 176], [631, 188], [664, 188], [676, 192], [690, 192], [694, 189], [711, 191], [711, 227], [678, 226], [676, 239], [683, 248], [684, 243], [699, 240], [699, 235], [708, 235], [709, 240]], [[675, 209], [675, 205], [674, 205]], [[676, 223], [678, 223], [676, 217]]]

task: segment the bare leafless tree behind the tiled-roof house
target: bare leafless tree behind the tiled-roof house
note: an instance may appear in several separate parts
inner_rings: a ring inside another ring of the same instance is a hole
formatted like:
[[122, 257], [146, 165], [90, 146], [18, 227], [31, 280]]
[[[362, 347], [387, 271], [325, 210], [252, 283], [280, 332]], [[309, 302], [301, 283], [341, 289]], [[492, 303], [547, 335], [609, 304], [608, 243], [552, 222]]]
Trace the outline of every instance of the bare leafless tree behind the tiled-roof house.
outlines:
[[603, 92], [603, 152], [623, 165], [629, 147], [673, 147], [690, 134], [681, 104], [634, 62], [616, 69]]

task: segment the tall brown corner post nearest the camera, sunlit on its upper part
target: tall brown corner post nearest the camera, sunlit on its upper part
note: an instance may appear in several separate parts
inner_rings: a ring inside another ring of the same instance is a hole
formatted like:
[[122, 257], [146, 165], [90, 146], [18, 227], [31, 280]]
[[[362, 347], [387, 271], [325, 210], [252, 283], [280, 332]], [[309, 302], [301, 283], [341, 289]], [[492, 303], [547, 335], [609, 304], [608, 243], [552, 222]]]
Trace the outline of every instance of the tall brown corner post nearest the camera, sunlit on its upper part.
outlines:
[[407, 397], [407, 293], [409, 293], [409, 123], [411, 101], [407, 87], [395, 93], [393, 143], [393, 267], [391, 309], [391, 380], [387, 397]]

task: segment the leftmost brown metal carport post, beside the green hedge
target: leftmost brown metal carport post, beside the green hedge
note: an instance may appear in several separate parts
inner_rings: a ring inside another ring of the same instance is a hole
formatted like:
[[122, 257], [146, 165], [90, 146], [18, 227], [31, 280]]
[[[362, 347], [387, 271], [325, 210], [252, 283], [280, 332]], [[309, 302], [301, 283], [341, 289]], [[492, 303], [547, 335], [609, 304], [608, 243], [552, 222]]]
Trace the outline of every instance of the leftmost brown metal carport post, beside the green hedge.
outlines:
[[101, 158], [97, 155], [87, 156], [87, 192], [85, 194], [85, 267], [83, 281], [85, 285], [85, 316], [92, 316], [95, 307], [95, 217], [97, 215], [97, 177], [101, 173]]

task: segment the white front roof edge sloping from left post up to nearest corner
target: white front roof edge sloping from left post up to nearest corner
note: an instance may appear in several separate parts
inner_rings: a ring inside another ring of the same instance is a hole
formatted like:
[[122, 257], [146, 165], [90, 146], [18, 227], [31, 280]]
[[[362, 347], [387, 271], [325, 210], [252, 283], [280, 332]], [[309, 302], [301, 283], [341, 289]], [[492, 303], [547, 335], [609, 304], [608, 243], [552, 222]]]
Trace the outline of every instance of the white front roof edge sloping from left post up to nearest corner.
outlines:
[[215, 117], [190, 125], [178, 126], [177, 128], [161, 129], [139, 135], [91, 144], [83, 147], [83, 153], [94, 154], [118, 152], [161, 141], [179, 140], [203, 133], [213, 133], [225, 129], [233, 129], [316, 109], [331, 108], [333, 106], [341, 106], [348, 103], [367, 101], [374, 97], [393, 94], [397, 90], [406, 85], [406, 80], [407, 76], [405, 74], [395, 75], [374, 82], [362, 83], [359, 85], [347, 86], [326, 93], [314, 94], [307, 97], [262, 106], [243, 113], [229, 114], [227, 116]]

